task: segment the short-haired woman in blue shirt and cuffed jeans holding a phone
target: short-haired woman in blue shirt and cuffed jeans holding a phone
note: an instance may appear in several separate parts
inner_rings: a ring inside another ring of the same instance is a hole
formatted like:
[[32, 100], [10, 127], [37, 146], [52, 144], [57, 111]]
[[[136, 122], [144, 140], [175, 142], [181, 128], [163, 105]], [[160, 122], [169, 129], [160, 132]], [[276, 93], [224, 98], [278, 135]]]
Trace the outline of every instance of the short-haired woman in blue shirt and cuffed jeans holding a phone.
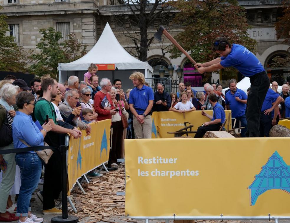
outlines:
[[[51, 123], [44, 123], [42, 129], [35, 125], [30, 114], [33, 112], [35, 97], [28, 92], [20, 92], [16, 98], [19, 111], [12, 123], [14, 148], [43, 146], [44, 137], [51, 130]], [[27, 131], [29, 130], [29, 131]], [[35, 151], [17, 153], [15, 161], [21, 170], [21, 187], [17, 200], [16, 216], [19, 222], [43, 222], [31, 213], [30, 199], [38, 185], [42, 171], [42, 161]]]

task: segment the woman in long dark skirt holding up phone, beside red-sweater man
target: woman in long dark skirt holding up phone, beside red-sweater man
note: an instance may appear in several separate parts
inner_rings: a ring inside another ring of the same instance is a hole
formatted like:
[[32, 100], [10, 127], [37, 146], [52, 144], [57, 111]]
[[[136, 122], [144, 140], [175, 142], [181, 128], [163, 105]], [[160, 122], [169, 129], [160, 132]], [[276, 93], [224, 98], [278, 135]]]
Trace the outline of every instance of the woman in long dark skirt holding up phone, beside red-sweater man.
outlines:
[[[117, 92], [118, 90], [118, 92]], [[120, 93], [120, 89], [112, 87], [111, 91], [109, 92], [112, 101], [116, 106], [117, 113], [112, 115], [112, 126], [113, 126], [113, 133], [112, 133], [112, 150], [111, 150], [111, 160], [112, 163], [117, 163], [117, 159], [122, 157], [122, 142], [124, 141], [124, 128], [121, 121], [121, 115], [124, 114], [126, 119], [128, 120], [128, 113], [124, 108], [124, 102], [122, 100], [116, 100], [116, 93]]]

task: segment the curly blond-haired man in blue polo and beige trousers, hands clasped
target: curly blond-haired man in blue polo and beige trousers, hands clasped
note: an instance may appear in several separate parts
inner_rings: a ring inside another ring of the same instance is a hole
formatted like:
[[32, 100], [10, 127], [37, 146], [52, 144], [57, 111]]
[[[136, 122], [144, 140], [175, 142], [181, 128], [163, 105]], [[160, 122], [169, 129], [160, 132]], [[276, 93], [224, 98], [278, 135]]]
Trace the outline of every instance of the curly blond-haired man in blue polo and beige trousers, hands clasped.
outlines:
[[151, 87], [144, 85], [145, 77], [140, 72], [130, 75], [134, 89], [130, 92], [130, 111], [134, 115], [133, 127], [135, 139], [151, 139], [151, 109], [153, 107], [154, 94]]

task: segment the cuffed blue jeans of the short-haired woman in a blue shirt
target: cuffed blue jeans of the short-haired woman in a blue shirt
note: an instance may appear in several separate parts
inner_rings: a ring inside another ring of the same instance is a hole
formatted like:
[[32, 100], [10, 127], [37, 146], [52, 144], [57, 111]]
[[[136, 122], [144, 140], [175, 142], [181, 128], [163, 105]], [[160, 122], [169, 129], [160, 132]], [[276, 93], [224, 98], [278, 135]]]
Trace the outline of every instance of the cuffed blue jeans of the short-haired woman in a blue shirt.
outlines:
[[23, 152], [15, 156], [16, 164], [20, 167], [21, 187], [17, 200], [16, 216], [28, 216], [31, 211], [30, 199], [37, 188], [42, 170], [42, 161], [36, 153]]

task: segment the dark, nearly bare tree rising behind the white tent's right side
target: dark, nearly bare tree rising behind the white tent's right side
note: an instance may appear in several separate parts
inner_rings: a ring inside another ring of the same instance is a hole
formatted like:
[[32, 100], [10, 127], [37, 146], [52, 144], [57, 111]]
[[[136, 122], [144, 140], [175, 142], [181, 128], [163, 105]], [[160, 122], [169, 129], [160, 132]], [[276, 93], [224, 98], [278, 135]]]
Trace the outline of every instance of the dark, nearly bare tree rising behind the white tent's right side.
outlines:
[[[131, 43], [124, 47], [131, 55], [141, 61], [147, 61], [147, 54], [154, 40], [153, 34], [160, 25], [168, 24], [167, 0], [128, 0], [126, 7], [132, 15], [116, 14], [114, 22], [121, 24], [125, 31], [123, 34], [131, 39]], [[154, 30], [148, 35], [148, 30]], [[163, 48], [164, 50], [164, 48]], [[165, 52], [163, 52], [163, 55]]]

